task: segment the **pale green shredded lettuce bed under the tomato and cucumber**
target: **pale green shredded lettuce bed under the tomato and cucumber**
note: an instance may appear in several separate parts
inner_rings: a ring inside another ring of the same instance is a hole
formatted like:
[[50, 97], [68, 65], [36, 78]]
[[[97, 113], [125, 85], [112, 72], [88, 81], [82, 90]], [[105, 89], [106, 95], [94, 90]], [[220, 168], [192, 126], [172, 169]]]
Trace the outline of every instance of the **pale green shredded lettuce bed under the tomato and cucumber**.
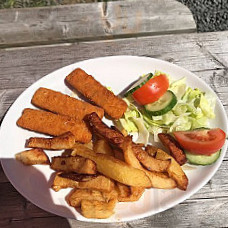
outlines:
[[[159, 77], [155, 71], [154, 77]], [[158, 141], [161, 132], [186, 131], [200, 127], [209, 127], [209, 120], [215, 117], [215, 97], [200, 89], [186, 85], [186, 78], [173, 81], [168, 76], [171, 90], [177, 97], [177, 104], [168, 113], [161, 116], [149, 116], [143, 107], [137, 107], [131, 96], [124, 98], [128, 108], [119, 123], [128, 132], [138, 133], [137, 142], [147, 144], [151, 134]]]

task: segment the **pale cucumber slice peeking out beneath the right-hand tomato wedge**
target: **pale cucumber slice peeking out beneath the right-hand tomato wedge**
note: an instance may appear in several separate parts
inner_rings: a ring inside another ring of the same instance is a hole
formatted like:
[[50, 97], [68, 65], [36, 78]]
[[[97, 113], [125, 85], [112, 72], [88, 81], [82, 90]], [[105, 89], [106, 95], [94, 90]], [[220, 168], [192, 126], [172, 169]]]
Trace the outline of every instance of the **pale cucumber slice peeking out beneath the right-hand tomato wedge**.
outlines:
[[221, 150], [215, 152], [210, 156], [207, 156], [207, 155], [191, 154], [185, 151], [188, 162], [193, 165], [211, 165], [218, 160], [218, 158], [220, 157], [220, 153], [221, 153]]

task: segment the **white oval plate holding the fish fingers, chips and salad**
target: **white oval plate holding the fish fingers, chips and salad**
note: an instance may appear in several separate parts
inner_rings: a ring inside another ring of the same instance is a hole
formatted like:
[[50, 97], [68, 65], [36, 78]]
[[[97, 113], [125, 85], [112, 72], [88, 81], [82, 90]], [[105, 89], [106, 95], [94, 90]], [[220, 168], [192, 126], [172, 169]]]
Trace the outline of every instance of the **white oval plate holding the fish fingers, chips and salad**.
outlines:
[[[81, 221], [120, 222], [143, 218], [174, 207], [189, 198], [211, 179], [222, 162], [227, 149], [227, 143], [224, 145], [222, 154], [215, 164], [186, 171], [189, 178], [189, 186], [185, 192], [178, 189], [146, 190], [138, 202], [118, 203], [115, 215], [103, 220], [86, 219], [74, 208], [68, 206], [65, 196], [70, 190], [54, 192], [50, 189], [50, 177], [53, 171], [48, 166], [36, 165], [26, 167], [20, 162], [15, 161], [14, 155], [25, 150], [24, 144], [26, 139], [40, 135], [16, 126], [16, 121], [20, 117], [22, 110], [33, 107], [30, 101], [34, 92], [42, 86], [71, 94], [71, 91], [64, 84], [64, 78], [76, 67], [81, 67], [87, 73], [93, 75], [103, 85], [111, 86], [116, 94], [119, 94], [130, 83], [137, 80], [140, 75], [154, 72], [156, 69], [170, 74], [174, 79], [185, 76], [189, 86], [214, 94], [205, 82], [181, 67], [158, 59], [136, 56], [113, 56], [86, 60], [63, 67], [41, 78], [26, 89], [14, 102], [2, 122], [0, 131], [0, 156], [3, 169], [13, 186], [24, 197], [38, 207], [63, 217], [76, 218]], [[220, 127], [227, 132], [227, 117], [219, 99], [216, 102], [215, 112], [216, 119], [211, 122], [211, 126]], [[47, 151], [50, 157], [60, 153], [60, 151]]]

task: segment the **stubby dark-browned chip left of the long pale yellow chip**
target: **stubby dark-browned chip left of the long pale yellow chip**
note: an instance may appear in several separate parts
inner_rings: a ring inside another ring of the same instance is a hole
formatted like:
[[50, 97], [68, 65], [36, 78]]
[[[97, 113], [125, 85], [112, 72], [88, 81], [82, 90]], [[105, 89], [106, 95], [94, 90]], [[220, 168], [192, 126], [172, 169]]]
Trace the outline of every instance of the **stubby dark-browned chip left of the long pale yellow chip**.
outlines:
[[96, 174], [96, 164], [79, 156], [52, 157], [50, 167], [56, 171]]

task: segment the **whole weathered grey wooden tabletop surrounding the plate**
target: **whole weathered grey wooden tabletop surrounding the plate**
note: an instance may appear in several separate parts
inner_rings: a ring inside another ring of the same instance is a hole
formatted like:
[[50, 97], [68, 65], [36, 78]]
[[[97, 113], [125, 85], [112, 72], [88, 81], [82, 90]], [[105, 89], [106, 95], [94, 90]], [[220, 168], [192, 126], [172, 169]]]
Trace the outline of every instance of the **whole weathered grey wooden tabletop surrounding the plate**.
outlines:
[[[25, 88], [62, 66], [111, 55], [140, 55], [173, 62], [208, 83], [228, 114], [228, 32], [179, 34], [0, 50], [0, 118]], [[92, 224], [45, 212], [22, 197], [0, 168], [0, 227], [227, 227], [228, 154], [198, 193], [160, 214], [129, 223]]]

